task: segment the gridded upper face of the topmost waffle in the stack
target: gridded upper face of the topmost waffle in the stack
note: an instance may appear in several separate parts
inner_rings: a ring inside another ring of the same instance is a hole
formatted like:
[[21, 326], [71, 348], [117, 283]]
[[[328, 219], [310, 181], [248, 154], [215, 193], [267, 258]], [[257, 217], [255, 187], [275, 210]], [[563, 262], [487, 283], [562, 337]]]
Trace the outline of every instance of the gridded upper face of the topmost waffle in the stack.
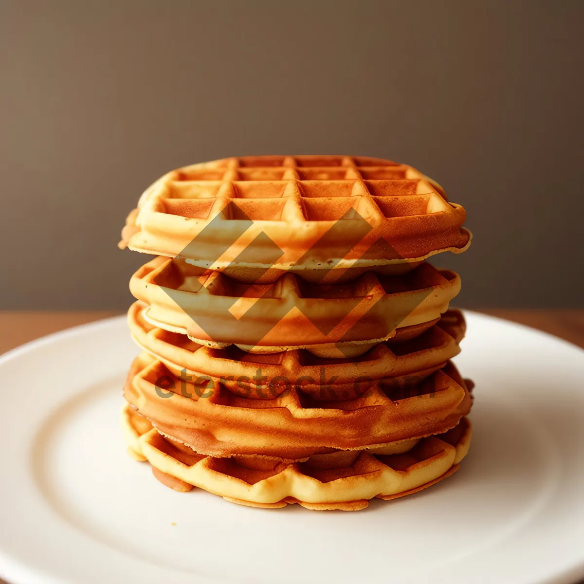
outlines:
[[286, 223], [350, 219], [353, 209], [374, 224], [449, 209], [441, 187], [411, 166], [352, 157], [244, 157], [186, 166], [145, 198], [182, 217], [214, 217], [231, 201], [227, 220]]

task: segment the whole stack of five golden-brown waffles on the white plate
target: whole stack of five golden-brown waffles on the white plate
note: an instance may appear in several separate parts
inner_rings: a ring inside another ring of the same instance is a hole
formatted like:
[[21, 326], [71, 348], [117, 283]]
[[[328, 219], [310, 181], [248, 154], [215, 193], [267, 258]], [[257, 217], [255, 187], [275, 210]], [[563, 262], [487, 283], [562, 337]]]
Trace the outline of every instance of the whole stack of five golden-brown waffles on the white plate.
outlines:
[[458, 469], [470, 382], [451, 359], [460, 278], [425, 260], [470, 244], [464, 209], [411, 166], [242, 157], [170, 172], [121, 247], [141, 349], [128, 451], [176, 491], [242, 505], [363, 509]]

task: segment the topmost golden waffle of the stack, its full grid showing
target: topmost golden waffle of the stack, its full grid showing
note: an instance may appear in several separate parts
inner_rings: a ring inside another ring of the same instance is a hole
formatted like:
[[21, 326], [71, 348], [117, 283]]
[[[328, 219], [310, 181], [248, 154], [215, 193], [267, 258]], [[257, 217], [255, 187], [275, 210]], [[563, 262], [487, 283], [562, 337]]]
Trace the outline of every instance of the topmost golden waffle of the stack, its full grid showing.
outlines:
[[[347, 156], [243, 157], [169, 172], [128, 215], [120, 247], [242, 281], [407, 269], [470, 244], [464, 208], [407, 165]], [[358, 275], [358, 274], [357, 274]]]

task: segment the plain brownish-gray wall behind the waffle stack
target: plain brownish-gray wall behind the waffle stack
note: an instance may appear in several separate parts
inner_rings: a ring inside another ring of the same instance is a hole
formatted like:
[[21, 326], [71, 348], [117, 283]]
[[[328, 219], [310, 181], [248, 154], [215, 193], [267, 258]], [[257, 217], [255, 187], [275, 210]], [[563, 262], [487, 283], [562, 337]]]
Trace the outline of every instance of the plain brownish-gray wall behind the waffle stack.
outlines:
[[0, 4], [0, 308], [124, 308], [142, 190], [229, 155], [408, 162], [468, 307], [582, 307], [584, 2]]

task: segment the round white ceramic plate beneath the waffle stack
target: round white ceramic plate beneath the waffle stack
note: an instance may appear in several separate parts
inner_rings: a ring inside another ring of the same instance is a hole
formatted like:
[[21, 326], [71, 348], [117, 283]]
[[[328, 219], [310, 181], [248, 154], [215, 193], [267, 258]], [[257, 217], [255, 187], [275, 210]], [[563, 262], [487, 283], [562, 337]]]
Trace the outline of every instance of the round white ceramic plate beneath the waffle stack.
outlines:
[[0, 359], [0, 575], [15, 584], [566, 582], [584, 575], [584, 351], [467, 313], [461, 470], [356, 513], [176, 493], [126, 454], [123, 318]]

